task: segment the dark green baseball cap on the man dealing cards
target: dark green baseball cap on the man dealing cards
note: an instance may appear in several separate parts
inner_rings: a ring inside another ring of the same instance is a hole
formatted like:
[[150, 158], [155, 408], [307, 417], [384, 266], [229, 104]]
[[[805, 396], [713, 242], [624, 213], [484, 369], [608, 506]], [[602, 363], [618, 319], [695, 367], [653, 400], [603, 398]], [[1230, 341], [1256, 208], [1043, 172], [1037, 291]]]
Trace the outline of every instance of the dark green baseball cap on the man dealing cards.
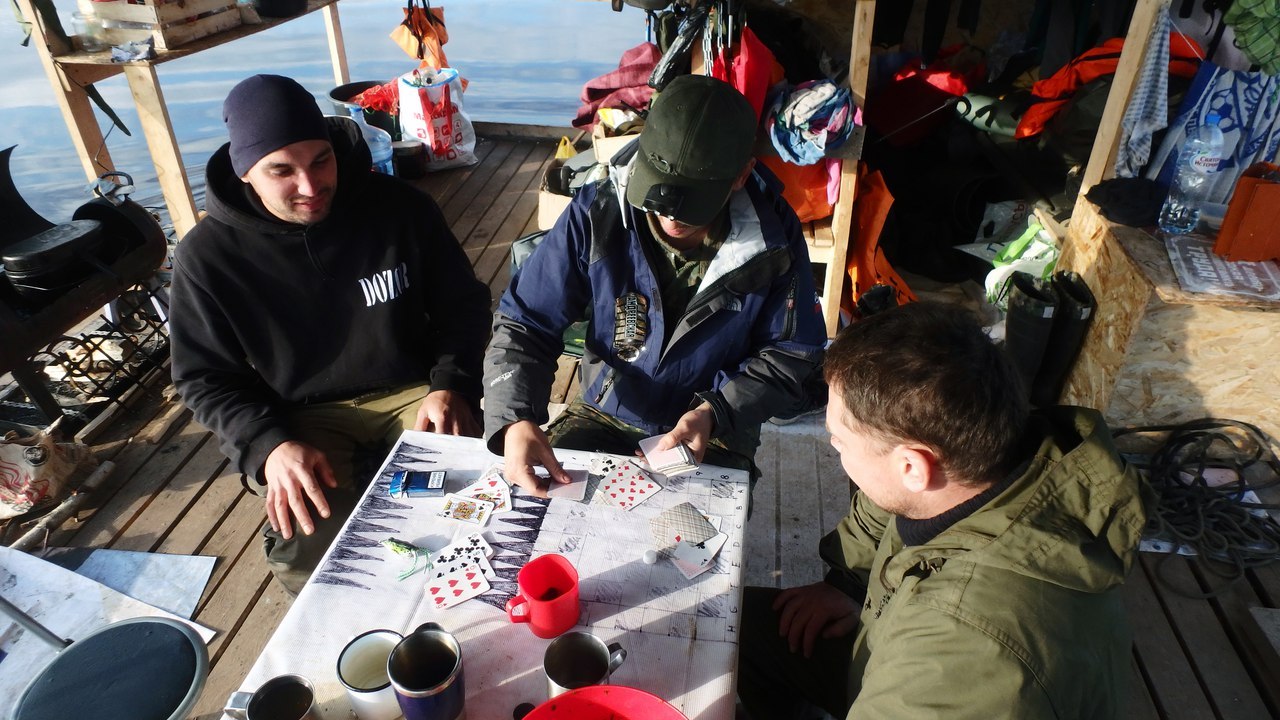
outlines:
[[689, 225], [709, 224], [751, 158], [755, 128], [755, 110], [733, 86], [677, 77], [649, 106], [627, 201]]

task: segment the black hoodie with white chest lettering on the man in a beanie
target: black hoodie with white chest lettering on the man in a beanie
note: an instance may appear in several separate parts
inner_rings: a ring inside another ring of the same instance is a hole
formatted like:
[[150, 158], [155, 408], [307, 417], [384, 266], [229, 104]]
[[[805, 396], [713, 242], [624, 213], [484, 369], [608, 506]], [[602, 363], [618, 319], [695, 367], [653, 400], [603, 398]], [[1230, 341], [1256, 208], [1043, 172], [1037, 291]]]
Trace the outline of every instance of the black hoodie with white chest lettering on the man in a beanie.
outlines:
[[480, 400], [489, 288], [430, 196], [371, 173], [358, 127], [329, 118], [338, 188], [314, 225], [276, 219], [230, 167], [209, 160], [209, 215], [178, 243], [173, 382], [259, 477], [303, 402], [415, 382]]

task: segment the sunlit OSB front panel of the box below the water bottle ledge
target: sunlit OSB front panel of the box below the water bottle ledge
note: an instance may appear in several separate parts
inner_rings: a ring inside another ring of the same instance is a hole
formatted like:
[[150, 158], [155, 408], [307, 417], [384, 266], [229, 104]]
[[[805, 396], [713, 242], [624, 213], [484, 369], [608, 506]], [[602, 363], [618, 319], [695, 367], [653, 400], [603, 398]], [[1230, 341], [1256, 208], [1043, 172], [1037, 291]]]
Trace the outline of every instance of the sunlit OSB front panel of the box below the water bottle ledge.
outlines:
[[1280, 437], [1280, 313], [1153, 301], [1105, 415], [1114, 425], [1229, 418]]

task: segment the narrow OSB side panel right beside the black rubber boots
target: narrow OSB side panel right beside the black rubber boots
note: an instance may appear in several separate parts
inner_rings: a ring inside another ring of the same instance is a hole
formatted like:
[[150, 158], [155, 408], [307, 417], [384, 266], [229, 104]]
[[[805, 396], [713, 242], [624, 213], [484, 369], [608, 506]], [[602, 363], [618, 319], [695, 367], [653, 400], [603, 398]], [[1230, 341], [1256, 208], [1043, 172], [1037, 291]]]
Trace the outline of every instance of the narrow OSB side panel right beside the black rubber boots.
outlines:
[[1098, 304], [1062, 402], [1102, 409], [1124, 368], [1129, 338], [1153, 300], [1151, 284], [1115, 242], [1106, 220], [1084, 200], [1075, 206], [1059, 268], [1079, 273]]

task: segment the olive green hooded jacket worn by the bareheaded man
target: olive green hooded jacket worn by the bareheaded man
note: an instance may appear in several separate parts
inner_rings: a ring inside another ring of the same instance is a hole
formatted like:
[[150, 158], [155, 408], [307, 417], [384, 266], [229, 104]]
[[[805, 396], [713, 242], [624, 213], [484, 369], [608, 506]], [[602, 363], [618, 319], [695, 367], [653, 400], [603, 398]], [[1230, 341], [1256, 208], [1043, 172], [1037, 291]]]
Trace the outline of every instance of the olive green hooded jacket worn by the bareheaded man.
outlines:
[[1120, 584], [1146, 521], [1097, 411], [1033, 415], [1029, 466], [919, 546], [863, 493], [823, 538], [827, 582], [867, 588], [850, 719], [1120, 716], [1132, 639]]

